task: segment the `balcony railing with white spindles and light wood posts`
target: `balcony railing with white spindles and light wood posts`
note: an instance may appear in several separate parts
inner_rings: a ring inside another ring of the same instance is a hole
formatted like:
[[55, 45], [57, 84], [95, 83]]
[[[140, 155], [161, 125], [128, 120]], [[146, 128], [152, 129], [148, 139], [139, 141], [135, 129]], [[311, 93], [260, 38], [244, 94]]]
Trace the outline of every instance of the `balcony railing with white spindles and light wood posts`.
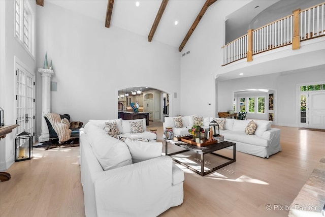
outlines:
[[300, 11], [269, 23], [226, 44], [223, 49], [223, 65], [239, 59], [252, 61], [252, 55], [292, 44], [293, 50], [300, 48], [300, 42], [325, 36], [325, 3]]

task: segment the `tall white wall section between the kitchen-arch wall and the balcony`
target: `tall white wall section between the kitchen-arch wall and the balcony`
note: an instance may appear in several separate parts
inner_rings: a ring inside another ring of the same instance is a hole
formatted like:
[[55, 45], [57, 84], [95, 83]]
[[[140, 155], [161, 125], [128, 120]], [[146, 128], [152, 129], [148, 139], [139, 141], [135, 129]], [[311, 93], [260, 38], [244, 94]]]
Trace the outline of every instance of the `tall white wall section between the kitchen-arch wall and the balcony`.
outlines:
[[181, 57], [182, 115], [216, 116], [215, 75], [222, 65], [224, 17], [249, 2], [215, 2], [208, 8], [183, 48], [181, 54], [187, 51], [190, 53]]

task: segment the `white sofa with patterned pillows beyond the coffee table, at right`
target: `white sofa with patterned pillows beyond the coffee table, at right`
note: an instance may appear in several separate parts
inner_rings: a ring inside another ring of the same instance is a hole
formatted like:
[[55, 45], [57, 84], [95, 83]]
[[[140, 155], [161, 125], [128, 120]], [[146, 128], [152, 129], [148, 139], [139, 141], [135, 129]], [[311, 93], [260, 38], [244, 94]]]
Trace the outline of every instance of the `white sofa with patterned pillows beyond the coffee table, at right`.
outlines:
[[[165, 117], [164, 129], [172, 127], [174, 136], [188, 135], [188, 128], [193, 126], [194, 116], [182, 116], [182, 128], [175, 127], [175, 117]], [[272, 121], [254, 120], [257, 125], [256, 131], [253, 135], [247, 135], [245, 128], [250, 120], [204, 117], [202, 128], [208, 129], [213, 119], [225, 121], [224, 130], [220, 130], [220, 135], [224, 136], [225, 141], [235, 142], [237, 151], [262, 158], [269, 158], [272, 154], [281, 151], [280, 129], [271, 128]]]

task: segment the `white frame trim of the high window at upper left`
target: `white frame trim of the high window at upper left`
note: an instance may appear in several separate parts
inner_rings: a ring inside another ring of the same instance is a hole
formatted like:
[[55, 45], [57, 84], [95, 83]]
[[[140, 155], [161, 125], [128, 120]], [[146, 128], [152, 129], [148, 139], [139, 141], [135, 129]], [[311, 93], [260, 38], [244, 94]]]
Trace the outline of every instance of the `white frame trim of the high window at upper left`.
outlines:
[[[19, 10], [19, 32], [20, 36], [17, 37], [16, 35], [16, 0], [15, 0], [15, 7], [14, 7], [14, 38], [21, 44], [21, 46], [29, 53], [29, 55], [35, 60], [35, 12], [31, 9], [30, 4], [27, 0], [17, 0], [19, 1], [20, 10]], [[28, 44], [29, 49], [23, 43], [24, 37], [24, 7], [27, 7], [27, 11], [29, 12], [29, 29], [28, 29]]]

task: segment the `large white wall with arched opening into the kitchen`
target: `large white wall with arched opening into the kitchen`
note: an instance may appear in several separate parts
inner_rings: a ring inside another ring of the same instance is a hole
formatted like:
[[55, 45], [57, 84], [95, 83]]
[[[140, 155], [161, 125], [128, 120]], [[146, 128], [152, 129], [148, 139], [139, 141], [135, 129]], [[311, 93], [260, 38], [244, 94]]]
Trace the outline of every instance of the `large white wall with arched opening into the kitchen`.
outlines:
[[[130, 86], [150, 86], [171, 96], [174, 92], [180, 95], [177, 48], [148, 42], [146, 37], [113, 25], [106, 28], [104, 21], [49, 2], [37, 13], [37, 65], [43, 66], [47, 51], [48, 61], [53, 61], [52, 81], [57, 82], [57, 91], [51, 92], [52, 112], [68, 113], [72, 120], [84, 123], [117, 118], [118, 90]], [[170, 102], [170, 113], [178, 115], [180, 98], [171, 97]], [[41, 110], [37, 115], [41, 116]]]

